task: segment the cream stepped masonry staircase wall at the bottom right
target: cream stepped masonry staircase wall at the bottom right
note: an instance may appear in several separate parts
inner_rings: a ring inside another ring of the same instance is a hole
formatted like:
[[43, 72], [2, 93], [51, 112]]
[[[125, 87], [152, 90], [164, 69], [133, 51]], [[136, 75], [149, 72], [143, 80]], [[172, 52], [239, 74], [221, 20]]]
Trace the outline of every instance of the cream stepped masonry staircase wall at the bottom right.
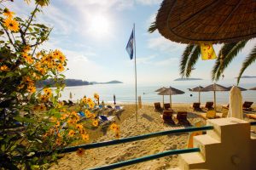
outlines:
[[256, 170], [256, 139], [250, 123], [233, 117], [207, 120], [214, 129], [194, 137], [200, 152], [179, 155], [178, 167], [169, 170]]

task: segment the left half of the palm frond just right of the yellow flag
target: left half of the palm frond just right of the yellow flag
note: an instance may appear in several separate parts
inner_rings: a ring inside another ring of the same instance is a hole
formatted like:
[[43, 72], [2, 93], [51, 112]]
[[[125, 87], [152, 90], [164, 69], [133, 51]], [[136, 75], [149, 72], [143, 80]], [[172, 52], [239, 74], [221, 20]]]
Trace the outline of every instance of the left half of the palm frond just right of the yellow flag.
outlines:
[[[237, 42], [233, 42], [233, 43], [226, 43], [224, 44], [219, 52], [218, 52], [218, 59], [216, 59], [215, 64], [212, 68], [212, 81], [218, 81], [219, 77], [221, 76], [222, 72], [222, 61], [224, 59], [225, 56], [227, 56], [230, 51], [232, 50], [232, 48], [234, 48], [236, 46]], [[222, 60], [222, 61], [221, 61]]]

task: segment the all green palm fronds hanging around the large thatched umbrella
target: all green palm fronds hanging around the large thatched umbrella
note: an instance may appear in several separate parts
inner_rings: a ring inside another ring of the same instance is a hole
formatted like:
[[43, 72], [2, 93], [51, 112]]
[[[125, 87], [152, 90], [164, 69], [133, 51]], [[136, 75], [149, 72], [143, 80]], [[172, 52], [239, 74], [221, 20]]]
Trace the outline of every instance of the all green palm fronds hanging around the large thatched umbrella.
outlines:
[[[157, 30], [156, 23], [153, 22], [148, 28], [148, 32], [152, 33]], [[225, 43], [218, 52], [218, 59], [212, 68], [212, 81], [218, 81], [223, 75], [224, 70], [230, 65], [231, 61], [236, 58], [237, 54], [241, 52], [249, 40], [241, 42]], [[190, 77], [197, 60], [201, 56], [200, 46], [195, 44], [189, 44], [183, 51], [182, 58], [180, 60], [180, 75], [182, 77]], [[239, 76], [237, 77], [237, 84], [240, 82], [242, 73], [247, 69], [249, 65], [252, 65], [256, 60], [256, 45], [251, 53], [243, 61]]]

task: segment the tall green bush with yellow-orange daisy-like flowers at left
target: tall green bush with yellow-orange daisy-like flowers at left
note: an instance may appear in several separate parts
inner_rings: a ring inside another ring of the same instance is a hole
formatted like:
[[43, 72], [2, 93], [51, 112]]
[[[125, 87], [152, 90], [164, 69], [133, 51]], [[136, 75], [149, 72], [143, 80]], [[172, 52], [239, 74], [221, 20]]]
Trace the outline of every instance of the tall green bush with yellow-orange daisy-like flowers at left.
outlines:
[[[39, 48], [51, 28], [35, 23], [35, 17], [49, 0], [35, 3], [26, 20], [9, 8], [0, 8], [0, 167], [7, 169], [47, 168], [57, 160], [57, 150], [76, 139], [89, 140], [77, 111], [69, 111], [59, 101], [64, 88], [62, 72], [67, 69], [65, 55], [58, 49]], [[55, 90], [36, 88], [38, 81], [49, 78], [55, 81]], [[84, 111], [90, 126], [97, 127], [99, 122], [90, 110], [99, 104], [99, 95], [94, 98], [95, 102], [81, 99], [79, 111]], [[119, 127], [112, 126], [119, 138]], [[33, 156], [38, 151], [47, 154]]]

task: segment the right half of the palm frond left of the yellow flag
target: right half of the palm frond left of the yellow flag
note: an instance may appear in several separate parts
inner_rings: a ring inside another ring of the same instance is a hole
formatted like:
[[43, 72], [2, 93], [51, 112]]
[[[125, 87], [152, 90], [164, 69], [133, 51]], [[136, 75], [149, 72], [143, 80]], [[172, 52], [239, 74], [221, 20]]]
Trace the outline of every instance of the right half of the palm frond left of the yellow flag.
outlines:
[[192, 68], [194, 67], [196, 61], [199, 59], [200, 56], [201, 56], [200, 45], [195, 45], [195, 47], [193, 48], [193, 52], [190, 55], [190, 58], [188, 60], [187, 67], [186, 67], [186, 73], [185, 73], [186, 77], [190, 77]]

